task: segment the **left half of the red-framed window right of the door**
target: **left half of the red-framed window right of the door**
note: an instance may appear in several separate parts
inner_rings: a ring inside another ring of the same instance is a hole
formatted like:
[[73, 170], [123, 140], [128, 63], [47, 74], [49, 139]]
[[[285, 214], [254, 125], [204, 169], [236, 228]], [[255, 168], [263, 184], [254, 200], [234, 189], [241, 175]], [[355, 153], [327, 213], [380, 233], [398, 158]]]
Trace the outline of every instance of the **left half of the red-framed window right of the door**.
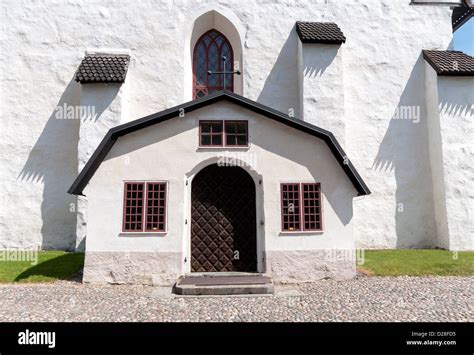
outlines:
[[300, 223], [300, 185], [282, 184], [282, 229], [284, 231], [299, 231]]

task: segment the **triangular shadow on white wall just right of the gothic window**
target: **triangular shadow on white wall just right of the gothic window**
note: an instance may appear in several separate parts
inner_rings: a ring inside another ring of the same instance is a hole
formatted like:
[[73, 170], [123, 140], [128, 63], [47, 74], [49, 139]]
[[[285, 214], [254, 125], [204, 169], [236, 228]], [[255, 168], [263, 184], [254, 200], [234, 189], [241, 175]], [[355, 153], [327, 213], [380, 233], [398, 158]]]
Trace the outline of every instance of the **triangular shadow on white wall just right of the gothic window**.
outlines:
[[288, 114], [294, 110], [296, 117], [299, 112], [299, 84], [298, 84], [298, 35], [295, 26], [285, 41], [272, 70], [267, 76], [257, 102], [270, 106]]

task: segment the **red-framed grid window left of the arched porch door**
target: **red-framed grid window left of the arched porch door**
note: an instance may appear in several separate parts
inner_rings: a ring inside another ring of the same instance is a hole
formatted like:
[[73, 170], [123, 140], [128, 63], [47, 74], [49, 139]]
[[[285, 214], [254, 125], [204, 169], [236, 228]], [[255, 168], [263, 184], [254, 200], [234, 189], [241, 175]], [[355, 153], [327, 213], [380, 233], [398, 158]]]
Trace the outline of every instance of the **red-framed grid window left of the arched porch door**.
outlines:
[[123, 231], [166, 231], [165, 182], [125, 183]]

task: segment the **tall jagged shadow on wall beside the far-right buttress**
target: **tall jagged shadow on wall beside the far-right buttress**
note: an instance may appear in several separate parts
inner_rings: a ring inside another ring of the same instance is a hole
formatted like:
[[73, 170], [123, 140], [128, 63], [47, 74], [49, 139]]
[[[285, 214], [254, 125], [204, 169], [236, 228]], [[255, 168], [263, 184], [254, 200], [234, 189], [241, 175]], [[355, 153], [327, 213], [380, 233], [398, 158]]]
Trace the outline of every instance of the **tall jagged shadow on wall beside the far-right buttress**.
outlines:
[[424, 65], [420, 55], [372, 164], [375, 171], [395, 173], [397, 248], [436, 246]]

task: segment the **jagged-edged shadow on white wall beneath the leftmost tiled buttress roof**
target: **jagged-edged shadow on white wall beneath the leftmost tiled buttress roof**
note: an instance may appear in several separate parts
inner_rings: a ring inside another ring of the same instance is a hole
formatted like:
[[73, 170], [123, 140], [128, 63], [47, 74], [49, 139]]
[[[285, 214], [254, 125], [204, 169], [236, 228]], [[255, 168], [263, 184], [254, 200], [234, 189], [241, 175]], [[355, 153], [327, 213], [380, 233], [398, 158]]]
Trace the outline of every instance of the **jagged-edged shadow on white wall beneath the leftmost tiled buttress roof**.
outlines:
[[[71, 79], [56, 107], [78, 106], [80, 92], [80, 85]], [[17, 179], [43, 184], [41, 248], [73, 250], [77, 199], [67, 189], [77, 175], [79, 121], [57, 119], [56, 107]]]

